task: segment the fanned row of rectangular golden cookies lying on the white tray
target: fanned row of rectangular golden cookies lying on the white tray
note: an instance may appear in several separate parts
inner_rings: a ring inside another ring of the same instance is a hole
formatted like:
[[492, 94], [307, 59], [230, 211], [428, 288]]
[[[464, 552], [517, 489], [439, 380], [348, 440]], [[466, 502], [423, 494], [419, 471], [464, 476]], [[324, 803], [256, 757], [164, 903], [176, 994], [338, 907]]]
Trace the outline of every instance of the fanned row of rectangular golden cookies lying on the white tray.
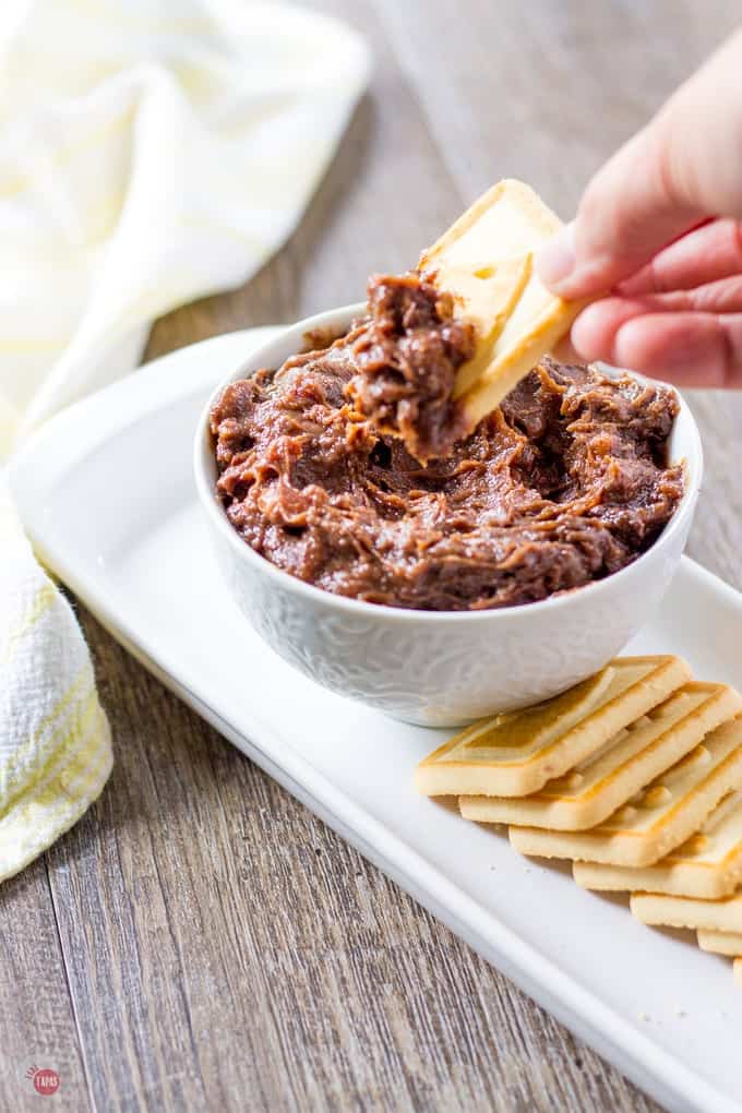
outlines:
[[416, 785], [507, 824], [521, 854], [573, 861], [588, 889], [627, 892], [645, 924], [689, 927], [742, 984], [742, 697], [676, 657], [616, 658], [425, 758]]

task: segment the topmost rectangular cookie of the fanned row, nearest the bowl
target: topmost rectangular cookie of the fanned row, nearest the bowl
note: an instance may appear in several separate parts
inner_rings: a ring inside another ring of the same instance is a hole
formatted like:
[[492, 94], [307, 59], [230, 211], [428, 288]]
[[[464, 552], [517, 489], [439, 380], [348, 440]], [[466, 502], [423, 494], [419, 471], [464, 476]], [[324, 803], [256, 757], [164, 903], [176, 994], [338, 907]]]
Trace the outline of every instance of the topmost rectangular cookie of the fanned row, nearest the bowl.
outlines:
[[424, 758], [425, 796], [526, 796], [594, 754], [690, 680], [677, 657], [619, 657], [561, 696], [482, 719]]

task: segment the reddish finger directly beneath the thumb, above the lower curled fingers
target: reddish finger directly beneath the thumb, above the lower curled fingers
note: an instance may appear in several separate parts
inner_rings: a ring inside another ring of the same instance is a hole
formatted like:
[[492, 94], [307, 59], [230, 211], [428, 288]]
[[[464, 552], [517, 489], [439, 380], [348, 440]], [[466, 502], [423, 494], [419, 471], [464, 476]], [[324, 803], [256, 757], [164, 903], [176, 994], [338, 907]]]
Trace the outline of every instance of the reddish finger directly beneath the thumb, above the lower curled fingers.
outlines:
[[712, 220], [665, 247], [622, 282], [619, 293], [633, 297], [691, 289], [739, 274], [742, 274], [742, 225], [736, 220]]

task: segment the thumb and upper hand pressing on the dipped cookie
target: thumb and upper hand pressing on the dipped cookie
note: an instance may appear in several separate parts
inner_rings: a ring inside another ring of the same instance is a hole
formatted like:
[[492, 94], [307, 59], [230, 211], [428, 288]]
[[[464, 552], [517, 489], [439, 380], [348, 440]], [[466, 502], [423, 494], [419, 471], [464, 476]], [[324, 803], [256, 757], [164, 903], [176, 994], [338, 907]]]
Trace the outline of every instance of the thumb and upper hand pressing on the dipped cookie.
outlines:
[[555, 293], [598, 296], [699, 221], [742, 217], [740, 72], [742, 32], [595, 175], [574, 226], [537, 260]]

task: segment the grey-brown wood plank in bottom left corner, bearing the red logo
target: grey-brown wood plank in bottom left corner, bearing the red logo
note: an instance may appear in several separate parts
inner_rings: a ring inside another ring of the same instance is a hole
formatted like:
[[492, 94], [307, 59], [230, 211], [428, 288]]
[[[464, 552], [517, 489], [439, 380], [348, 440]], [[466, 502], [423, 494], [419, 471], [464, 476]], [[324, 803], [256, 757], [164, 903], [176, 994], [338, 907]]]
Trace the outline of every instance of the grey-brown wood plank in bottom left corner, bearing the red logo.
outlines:
[[31, 1066], [59, 1075], [56, 1110], [91, 1105], [47, 867], [37, 859], [0, 887], [0, 1109], [38, 1110]]

